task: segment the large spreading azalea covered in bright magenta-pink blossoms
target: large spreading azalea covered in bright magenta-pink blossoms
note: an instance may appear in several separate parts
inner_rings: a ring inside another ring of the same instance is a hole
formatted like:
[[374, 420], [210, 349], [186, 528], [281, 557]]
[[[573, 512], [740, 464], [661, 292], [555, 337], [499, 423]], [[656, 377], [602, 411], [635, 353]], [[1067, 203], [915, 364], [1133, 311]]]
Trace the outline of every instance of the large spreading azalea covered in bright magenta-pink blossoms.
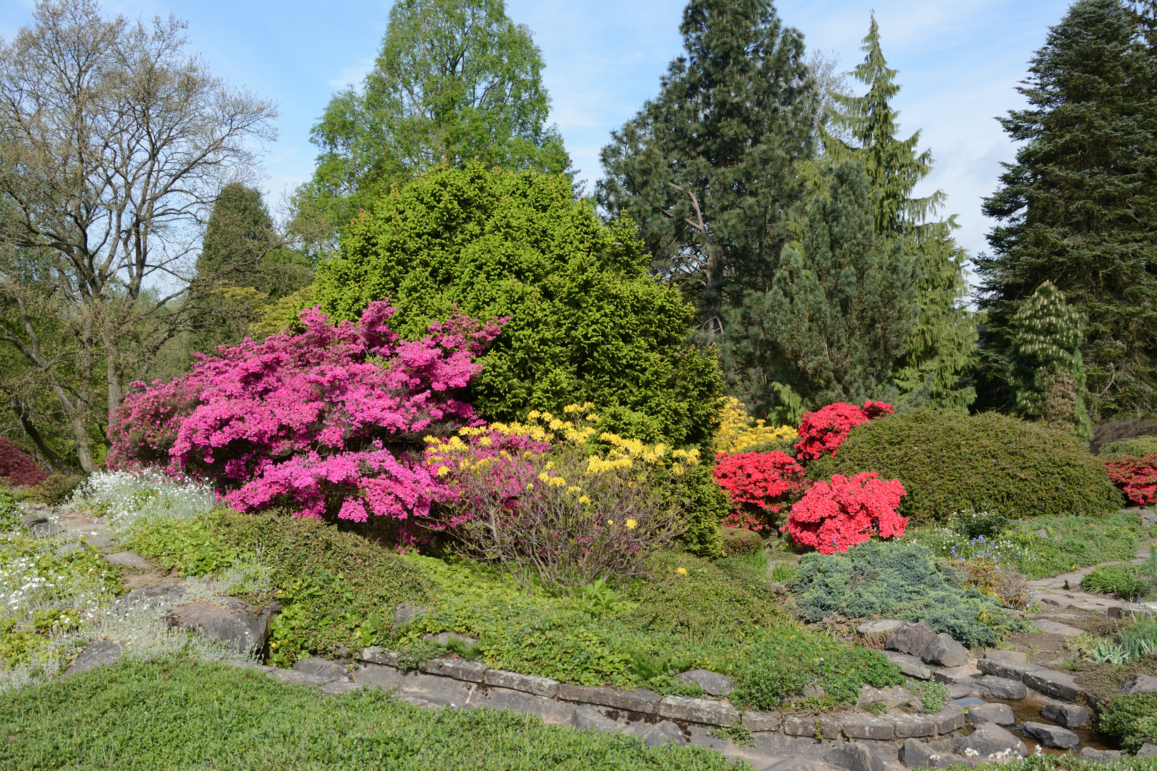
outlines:
[[171, 383], [135, 384], [110, 425], [113, 468], [164, 465], [207, 479], [239, 511], [366, 521], [429, 517], [454, 491], [422, 460], [423, 435], [480, 423], [456, 394], [504, 319], [457, 314], [414, 342], [370, 303], [356, 323], [319, 309], [302, 334], [245, 340], [201, 356]]

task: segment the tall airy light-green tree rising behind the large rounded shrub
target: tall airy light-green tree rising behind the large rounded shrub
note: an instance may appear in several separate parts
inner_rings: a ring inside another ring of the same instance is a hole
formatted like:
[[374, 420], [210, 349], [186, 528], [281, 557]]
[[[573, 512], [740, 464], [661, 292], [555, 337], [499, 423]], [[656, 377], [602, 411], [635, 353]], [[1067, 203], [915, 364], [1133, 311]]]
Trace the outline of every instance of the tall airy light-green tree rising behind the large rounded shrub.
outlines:
[[399, 0], [362, 88], [337, 94], [314, 127], [320, 154], [299, 224], [332, 246], [382, 191], [443, 162], [566, 170], [543, 67], [503, 0]]

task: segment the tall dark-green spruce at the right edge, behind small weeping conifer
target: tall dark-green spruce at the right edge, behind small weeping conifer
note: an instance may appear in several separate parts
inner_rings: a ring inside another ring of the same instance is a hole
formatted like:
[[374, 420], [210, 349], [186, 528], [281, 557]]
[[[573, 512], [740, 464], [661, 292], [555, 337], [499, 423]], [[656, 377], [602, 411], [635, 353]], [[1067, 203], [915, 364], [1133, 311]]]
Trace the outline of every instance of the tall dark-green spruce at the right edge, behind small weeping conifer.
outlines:
[[1012, 319], [1049, 281], [1088, 319], [1092, 416], [1157, 409], [1157, 110], [1142, 32], [1120, 0], [1077, 0], [1032, 59], [1029, 106], [1001, 120], [1022, 146], [983, 205], [1000, 223], [977, 260], [989, 403], [1012, 399]]

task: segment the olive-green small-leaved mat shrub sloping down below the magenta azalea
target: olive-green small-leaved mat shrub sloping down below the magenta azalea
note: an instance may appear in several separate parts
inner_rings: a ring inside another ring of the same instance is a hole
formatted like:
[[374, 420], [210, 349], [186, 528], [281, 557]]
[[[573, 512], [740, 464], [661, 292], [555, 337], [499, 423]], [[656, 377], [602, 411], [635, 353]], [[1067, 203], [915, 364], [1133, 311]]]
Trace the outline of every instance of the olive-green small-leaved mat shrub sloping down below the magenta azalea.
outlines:
[[283, 605], [273, 630], [279, 663], [360, 643], [356, 632], [366, 620], [403, 601], [425, 602], [430, 594], [430, 584], [404, 558], [332, 525], [233, 511], [214, 512], [205, 524], [228, 548], [251, 553], [273, 569], [275, 599]]

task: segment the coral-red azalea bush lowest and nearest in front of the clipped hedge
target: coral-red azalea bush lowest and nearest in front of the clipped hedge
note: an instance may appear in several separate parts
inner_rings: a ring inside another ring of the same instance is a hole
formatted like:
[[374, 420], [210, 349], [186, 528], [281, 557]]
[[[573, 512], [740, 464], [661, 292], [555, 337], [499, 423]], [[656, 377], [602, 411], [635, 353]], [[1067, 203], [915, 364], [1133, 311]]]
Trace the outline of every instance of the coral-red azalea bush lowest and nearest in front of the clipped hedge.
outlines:
[[907, 517], [896, 512], [904, 494], [899, 480], [884, 481], [876, 472], [856, 474], [850, 480], [835, 474], [831, 482], [816, 482], [804, 492], [781, 529], [796, 543], [820, 554], [847, 551], [872, 534], [900, 538], [908, 524]]

